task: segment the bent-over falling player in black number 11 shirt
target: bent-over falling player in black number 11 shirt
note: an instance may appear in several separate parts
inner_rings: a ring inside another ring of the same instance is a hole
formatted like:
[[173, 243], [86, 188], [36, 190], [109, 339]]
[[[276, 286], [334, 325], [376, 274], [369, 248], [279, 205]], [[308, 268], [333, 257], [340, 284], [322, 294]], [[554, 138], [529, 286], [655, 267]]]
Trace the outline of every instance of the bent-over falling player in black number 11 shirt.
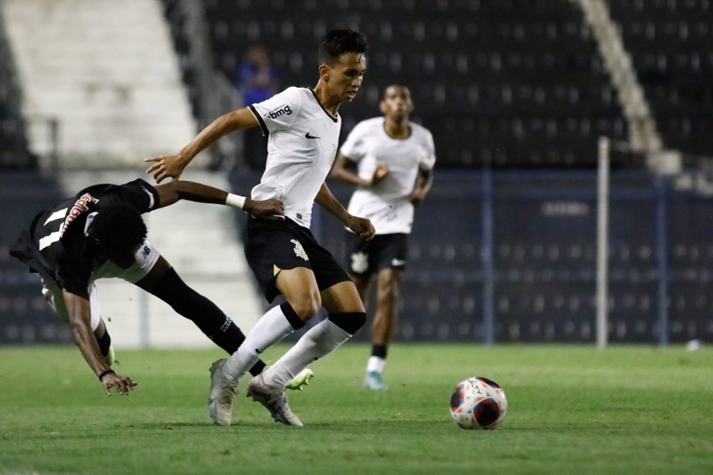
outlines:
[[[113, 349], [99, 309], [96, 281], [118, 277], [150, 292], [192, 320], [215, 344], [232, 354], [245, 335], [210, 300], [185, 285], [146, 240], [142, 213], [178, 200], [232, 204], [235, 195], [186, 181], [152, 186], [144, 180], [93, 185], [35, 216], [10, 254], [40, 276], [42, 293], [62, 320], [106, 394], [128, 394], [136, 383], [111, 369]], [[227, 202], [226, 202], [227, 201]], [[279, 200], [245, 200], [254, 215], [279, 215]], [[265, 367], [256, 362], [252, 372]]]

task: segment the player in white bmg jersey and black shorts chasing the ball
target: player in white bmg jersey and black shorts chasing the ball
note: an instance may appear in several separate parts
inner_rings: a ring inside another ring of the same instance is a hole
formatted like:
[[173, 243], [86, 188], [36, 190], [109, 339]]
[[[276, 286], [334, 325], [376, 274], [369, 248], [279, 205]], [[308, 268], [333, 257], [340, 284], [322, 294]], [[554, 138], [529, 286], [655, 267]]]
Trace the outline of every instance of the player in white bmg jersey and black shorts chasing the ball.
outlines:
[[247, 395], [263, 404], [277, 422], [301, 426], [287, 404], [285, 384], [317, 358], [324, 357], [364, 325], [359, 292], [334, 257], [309, 231], [317, 202], [350, 230], [368, 239], [374, 227], [347, 210], [324, 179], [337, 154], [337, 111], [354, 100], [366, 71], [366, 38], [351, 30], [329, 31], [319, 46], [319, 81], [313, 89], [287, 88], [261, 103], [217, 118], [176, 155], [148, 158], [160, 182], [178, 178], [196, 154], [226, 133], [259, 127], [268, 136], [267, 165], [253, 199], [284, 202], [284, 218], [250, 220], [245, 255], [269, 302], [279, 294], [286, 302], [268, 310], [229, 359], [211, 368], [208, 397], [216, 424], [232, 420], [237, 380], [259, 354], [304, 326], [324, 307], [329, 317], [312, 327], [287, 353], [247, 385]]

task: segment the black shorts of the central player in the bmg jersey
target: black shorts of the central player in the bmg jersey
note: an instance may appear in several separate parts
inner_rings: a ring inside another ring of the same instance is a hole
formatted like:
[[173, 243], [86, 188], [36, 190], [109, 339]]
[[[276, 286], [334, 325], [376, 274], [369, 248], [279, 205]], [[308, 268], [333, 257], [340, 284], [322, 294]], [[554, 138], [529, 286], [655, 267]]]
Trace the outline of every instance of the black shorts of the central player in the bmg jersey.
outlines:
[[260, 289], [272, 302], [279, 295], [275, 277], [280, 270], [312, 269], [319, 290], [350, 281], [347, 272], [324, 249], [309, 229], [289, 219], [259, 220], [249, 218], [245, 230], [245, 257]]

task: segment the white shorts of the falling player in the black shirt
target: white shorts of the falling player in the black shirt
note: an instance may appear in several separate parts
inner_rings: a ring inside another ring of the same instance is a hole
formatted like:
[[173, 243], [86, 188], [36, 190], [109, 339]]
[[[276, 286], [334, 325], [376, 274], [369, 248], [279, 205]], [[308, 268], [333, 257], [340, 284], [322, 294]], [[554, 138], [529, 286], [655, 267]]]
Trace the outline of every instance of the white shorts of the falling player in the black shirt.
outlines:
[[[135, 284], [148, 275], [148, 272], [153, 269], [153, 266], [156, 264], [156, 261], [158, 261], [160, 256], [160, 252], [158, 252], [158, 250], [156, 250], [156, 248], [153, 247], [148, 240], [145, 240], [143, 245], [141, 245], [136, 252], [136, 262], [134, 262], [131, 267], [128, 267], [128, 269], [122, 269], [113, 262], [106, 261], [101, 267], [92, 273], [89, 279], [88, 288], [92, 330], [96, 330], [99, 326], [99, 322], [101, 322], [99, 287], [97, 286], [96, 281], [99, 279], [118, 278]], [[58, 317], [68, 324], [69, 314], [67, 312], [67, 306], [64, 302], [61, 287], [56, 280], [49, 277], [40, 276], [40, 282], [42, 283], [42, 295], [45, 297], [48, 305], [52, 307], [52, 310], [54, 310]]]

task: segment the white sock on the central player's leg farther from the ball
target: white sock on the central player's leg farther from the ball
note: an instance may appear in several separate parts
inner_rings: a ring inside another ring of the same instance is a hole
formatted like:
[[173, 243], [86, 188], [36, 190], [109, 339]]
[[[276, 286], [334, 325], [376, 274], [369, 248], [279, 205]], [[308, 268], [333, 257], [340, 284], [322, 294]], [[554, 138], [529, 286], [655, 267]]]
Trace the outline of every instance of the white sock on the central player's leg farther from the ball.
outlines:
[[223, 374], [228, 379], [242, 377], [248, 369], [252, 368], [253, 364], [257, 363], [260, 353], [292, 332], [294, 332], [294, 328], [287, 321], [287, 317], [284, 316], [279, 305], [267, 310], [265, 315], [257, 320], [255, 327], [252, 327], [237, 352], [227, 359], [222, 367]]

